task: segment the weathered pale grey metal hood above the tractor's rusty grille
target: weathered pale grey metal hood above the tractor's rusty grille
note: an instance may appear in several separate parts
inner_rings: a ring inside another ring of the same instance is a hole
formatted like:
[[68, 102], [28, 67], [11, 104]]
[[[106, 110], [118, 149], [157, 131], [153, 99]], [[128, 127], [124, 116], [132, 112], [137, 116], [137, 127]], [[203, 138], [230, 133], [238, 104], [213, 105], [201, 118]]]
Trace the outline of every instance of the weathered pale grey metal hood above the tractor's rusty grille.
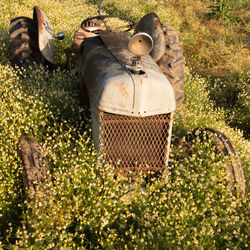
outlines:
[[150, 55], [132, 66], [129, 37], [126, 32], [103, 31], [82, 43], [80, 67], [91, 105], [135, 117], [173, 112], [171, 84]]

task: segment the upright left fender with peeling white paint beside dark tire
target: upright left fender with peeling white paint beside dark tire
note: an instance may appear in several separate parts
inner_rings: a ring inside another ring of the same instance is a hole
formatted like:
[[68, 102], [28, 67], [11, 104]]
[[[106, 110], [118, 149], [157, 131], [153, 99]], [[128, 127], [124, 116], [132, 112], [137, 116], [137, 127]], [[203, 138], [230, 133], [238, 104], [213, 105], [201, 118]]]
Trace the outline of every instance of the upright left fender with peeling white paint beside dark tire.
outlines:
[[46, 13], [41, 10], [38, 6], [34, 7], [33, 20], [38, 25], [38, 43], [39, 49], [44, 58], [55, 64], [54, 61], [54, 47], [53, 47], [53, 36], [51, 32], [51, 26]]

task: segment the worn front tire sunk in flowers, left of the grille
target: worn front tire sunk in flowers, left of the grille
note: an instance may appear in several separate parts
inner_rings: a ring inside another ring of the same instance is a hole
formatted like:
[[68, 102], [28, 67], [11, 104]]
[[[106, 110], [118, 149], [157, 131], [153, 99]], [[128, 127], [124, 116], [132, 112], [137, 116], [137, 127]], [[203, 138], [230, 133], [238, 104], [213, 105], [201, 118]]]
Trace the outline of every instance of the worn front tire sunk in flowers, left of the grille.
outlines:
[[41, 145], [29, 137], [18, 142], [19, 155], [23, 163], [23, 186], [25, 193], [35, 191], [36, 186], [48, 180], [48, 167]]

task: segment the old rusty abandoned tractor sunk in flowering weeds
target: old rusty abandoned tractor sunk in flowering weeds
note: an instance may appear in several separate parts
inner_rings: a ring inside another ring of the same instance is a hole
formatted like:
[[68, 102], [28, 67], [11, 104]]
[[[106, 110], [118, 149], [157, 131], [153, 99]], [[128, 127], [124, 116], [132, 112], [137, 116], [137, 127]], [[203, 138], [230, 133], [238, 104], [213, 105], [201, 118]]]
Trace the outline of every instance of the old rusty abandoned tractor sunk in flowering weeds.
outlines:
[[[121, 23], [113, 28], [112, 20]], [[53, 67], [53, 38], [43, 10], [34, 7], [33, 19], [10, 21], [9, 54], [13, 66]], [[184, 99], [184, 57], [178, 32], [162, 24], [155, 13], [138, 23], [124, 16], [99, 15], [85, 19], [74, 35], [81, 96], [89, 105], [95, 149], [104, 162], [124, 175], [160, 173], [168, 168], [173, 117]], [[70, 68], [70, 50], [65, 50]], [[219, 131], [197, 128], [188, 137], [212, 138], [218, 151], [229, 156], [227, 172], [244, 193], [240, 159]], [[191, 139], [190, 139], [191, 138]], [[188, 139], [187, 139], [188, 140]], [[201, 141], [202, 141], [201, 140]], [[44, 178], [46, 161], [32, 138], [19, 141], [24, 162], [24, 185]]]

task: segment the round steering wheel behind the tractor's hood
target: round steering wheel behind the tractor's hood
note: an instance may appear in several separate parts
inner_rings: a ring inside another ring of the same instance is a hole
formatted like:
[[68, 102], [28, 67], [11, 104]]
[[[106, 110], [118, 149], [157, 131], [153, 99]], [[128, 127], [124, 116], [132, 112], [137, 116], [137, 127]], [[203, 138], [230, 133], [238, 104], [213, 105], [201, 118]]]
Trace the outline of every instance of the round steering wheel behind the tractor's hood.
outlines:
[[105, 27], [108, 29], [108, 26], [106, 24], [106, 19], [111, 19], [111, 18], [117, 18], [117, 19], [120, 19], [122, 21], [127, 21], [129, 22], [128, 25], [125, 25], [125, 26], [120, 26], [120, 27], [117, 27], [116, 29], [117, 30], [121, 30], [121, 29], [124, 29], [124, 28], [127, 28], [127, 30], [125, 31], [129, 31], [131, 29], [133, 29], [136, 25], [136, 22], [131, 19], [131, 18], [128, 18], [128, 17], [125, 17], [125, 16], [116, 16], [116, 15], [99, 15], [99, 16], [94, 16], [94, 17], [89, 17], [87, 19], [85, 19], [82, 23], [81, 23], [81, 28], [87, 32], [92, 32], [94, 34], [98, 33], [98, 30], [89, 30], [87, 27], [86, 27], [86, 24], [88, 22], [94, 22], [96, 21], [98, 23], [98, 21], [101, 21]]

